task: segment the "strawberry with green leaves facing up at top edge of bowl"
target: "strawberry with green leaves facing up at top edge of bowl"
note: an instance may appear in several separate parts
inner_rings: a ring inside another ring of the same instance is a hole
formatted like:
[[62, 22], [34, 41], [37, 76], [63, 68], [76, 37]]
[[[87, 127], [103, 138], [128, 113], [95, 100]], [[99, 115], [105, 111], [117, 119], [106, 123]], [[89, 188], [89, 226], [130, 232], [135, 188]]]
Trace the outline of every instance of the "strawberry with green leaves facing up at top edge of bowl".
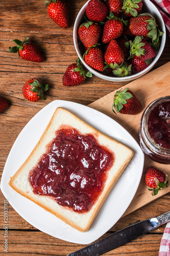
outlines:
[[124, 0], [122, 10], [129, 17], [136, 17], [142, 10], [142, 0]]

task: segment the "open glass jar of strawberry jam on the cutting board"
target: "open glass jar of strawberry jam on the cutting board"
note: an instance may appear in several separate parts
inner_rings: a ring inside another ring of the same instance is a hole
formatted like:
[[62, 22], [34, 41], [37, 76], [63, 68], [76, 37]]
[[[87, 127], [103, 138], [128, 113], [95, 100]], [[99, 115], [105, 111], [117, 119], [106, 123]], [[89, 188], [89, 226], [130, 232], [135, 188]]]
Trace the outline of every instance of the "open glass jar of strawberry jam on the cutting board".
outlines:
[[140, 121], [139, 139], [148, 157], [170, 164], [170, 96], [154, 100], [145, 109]]

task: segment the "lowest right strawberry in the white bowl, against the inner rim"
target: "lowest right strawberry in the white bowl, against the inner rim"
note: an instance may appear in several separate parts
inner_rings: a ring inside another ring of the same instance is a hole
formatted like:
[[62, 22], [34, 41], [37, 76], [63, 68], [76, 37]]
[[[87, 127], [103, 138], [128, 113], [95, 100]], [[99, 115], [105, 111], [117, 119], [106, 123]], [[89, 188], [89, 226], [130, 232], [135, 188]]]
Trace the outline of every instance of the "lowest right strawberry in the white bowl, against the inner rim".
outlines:
[[131, 63], [132, 63], [132, 72], [134, 74], [148, 68], [148, 66], [150, 65], [151, 63], [151, 60], [150, 59], [142, 59], [142, 57], [138, 57], [138, 56], [134, 56], [132, 59], [131, 59]]

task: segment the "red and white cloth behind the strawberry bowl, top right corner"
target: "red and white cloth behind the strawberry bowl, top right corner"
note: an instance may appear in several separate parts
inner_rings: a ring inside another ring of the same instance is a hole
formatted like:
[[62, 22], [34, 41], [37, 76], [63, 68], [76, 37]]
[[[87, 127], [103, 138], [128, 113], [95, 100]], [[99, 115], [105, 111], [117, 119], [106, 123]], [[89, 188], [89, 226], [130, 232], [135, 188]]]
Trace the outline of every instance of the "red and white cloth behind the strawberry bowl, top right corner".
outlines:
[[166, 26], [167, 34], [170, 36], [170, 0], [152, 0], [152, 3], [159, 10]]

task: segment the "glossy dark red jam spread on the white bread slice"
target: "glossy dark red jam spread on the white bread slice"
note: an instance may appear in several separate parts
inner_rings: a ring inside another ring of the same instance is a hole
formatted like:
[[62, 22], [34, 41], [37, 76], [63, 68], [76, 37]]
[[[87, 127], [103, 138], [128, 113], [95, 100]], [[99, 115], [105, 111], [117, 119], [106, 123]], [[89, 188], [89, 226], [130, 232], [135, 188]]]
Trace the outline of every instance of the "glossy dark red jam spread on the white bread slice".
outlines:
[[86, 212], [101, 194], [113, 153], [95, 138], [64, 127], [30, 173], [35, 194], [53, 197], [58, 204]]

